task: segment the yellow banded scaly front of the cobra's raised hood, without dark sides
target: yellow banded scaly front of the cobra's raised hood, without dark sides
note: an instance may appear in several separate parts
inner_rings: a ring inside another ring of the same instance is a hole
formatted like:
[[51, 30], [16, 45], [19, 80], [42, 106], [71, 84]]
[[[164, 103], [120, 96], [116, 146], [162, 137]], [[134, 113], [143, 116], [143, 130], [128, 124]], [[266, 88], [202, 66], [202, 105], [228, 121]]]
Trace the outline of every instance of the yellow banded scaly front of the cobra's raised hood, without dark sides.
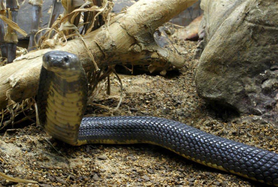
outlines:
[[82, 91], [60, 95], [50, 82], [46, 107], [46, 132], [52, 137], [76, 145], [82, 114]]

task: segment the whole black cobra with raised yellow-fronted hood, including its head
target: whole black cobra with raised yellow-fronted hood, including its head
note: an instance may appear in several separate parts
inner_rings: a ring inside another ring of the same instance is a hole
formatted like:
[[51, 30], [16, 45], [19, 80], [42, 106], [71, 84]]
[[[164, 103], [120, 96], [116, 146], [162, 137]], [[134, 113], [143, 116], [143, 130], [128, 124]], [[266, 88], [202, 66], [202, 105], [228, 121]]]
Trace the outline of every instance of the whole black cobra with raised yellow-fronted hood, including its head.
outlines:
[[83, 117], [86, 73], [65, 51], [43, 56], [37, 105], [52, 137], [71, 145], [150, 143], [222, 171], [278, 186], [278, 154], [203, 132], [183, 123], [147, 116]]

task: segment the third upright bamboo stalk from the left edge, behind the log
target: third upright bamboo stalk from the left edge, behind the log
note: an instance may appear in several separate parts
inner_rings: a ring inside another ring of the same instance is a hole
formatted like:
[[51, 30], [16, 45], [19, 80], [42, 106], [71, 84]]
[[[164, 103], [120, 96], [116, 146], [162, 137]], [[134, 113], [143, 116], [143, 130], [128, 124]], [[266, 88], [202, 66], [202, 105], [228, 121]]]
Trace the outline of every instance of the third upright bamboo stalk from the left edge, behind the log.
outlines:
[[38, 41], [39, 36], [35, 38], [36, 32], [39, 30], [40, 24], [40, 17], [41, 17], [41, 6], [43, 1], [42, 0], [32, 0], [28, 2], [32, 5], [32, 23], [31, 23], [31, 30], [30, 30], [30, 39], [28, 45], [28, 51], [35, 50], [36, 44], [35, 42]]

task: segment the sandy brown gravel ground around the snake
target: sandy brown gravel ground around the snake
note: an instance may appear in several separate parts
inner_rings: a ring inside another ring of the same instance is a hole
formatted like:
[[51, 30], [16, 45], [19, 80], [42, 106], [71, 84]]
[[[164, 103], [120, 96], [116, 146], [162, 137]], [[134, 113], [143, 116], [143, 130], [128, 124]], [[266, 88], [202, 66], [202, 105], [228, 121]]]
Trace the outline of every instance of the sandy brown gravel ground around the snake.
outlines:
[[[114, 115], [173, 119], [278, 153], [277, 127], [259, 116], [238, 116], [225, 109], [215, 112], [198, 97], [194, 83], [195, 46], [196, 42], [175, 42], [175, 47], [187, 58], [186, 67], [167, 72], [166, 76], [120, 74], [124, 97]], [[100, 94], [95, 102], [116, 107], [119, 93], [119, 83], [112, 76], [111, 95]], [[89, 106], [87, 113], [92, 111], [95, 114], [106, 112]], [[1, 179], [3, 186], [265, 186], [186, 160], [154, 145], [74, 147], [52, 139], [35, 124], [1, 135], [2, 172], [39, 182], [22, 184]]]

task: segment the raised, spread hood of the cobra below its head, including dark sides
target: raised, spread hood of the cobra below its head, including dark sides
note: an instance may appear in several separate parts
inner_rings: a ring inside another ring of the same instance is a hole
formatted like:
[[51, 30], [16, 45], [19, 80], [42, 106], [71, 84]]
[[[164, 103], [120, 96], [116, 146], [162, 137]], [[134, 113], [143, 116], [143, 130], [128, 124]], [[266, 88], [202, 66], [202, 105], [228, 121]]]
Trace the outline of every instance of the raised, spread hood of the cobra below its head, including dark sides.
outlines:
[[[40, 123], [50, 136], [71, 145], [78, 132], [87, 105], [87, 77], [84, 69], [69, 74], [41, 70], [39, 90], [43, 89]], [[42, 82], [42, 83], [41, 83]], [[83, 87], [83, 88], [82, 88]], [[45, 103], [45, 104], [44, 104]]]

